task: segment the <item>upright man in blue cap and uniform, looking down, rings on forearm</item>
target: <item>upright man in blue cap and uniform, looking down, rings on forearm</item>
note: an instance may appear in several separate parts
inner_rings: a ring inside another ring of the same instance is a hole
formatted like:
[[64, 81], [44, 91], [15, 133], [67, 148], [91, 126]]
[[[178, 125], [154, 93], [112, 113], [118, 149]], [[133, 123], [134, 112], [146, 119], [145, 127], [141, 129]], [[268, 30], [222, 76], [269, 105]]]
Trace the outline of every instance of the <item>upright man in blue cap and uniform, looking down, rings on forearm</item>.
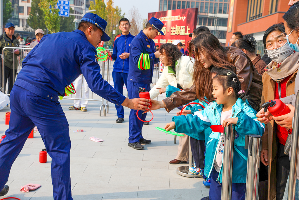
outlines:
[[[129, 74], [127, 90], [129, 98], [139, 97], [139, 87], [150, 91], [150, 84], [152, 83], [152, 75], [154, 71], [154, 64], [159, 62], [159, 52], [155, 51], [156, 45], [154, 39], [158, 32], [161, 31], [163, 23], [152, 17], [147, 22], [145, 29], [140, 31], [138, 35], [132, 40], [130, 45], [130, 60], [129, 60]], [[138, 68], [138, 61], [141, 53], [149, 55], [149, 69], [140, 70]], [[146, 114], [138, 112], [139, 118], [145, 120]], [[136, 111], [131, 110], [129, 117], [129, 143], [128, 145], [134, 149], [143, 149], [141, 144], [149, 144], [151, 141], [142, 137], [141, 129], [143, 122], [137, 118]]]

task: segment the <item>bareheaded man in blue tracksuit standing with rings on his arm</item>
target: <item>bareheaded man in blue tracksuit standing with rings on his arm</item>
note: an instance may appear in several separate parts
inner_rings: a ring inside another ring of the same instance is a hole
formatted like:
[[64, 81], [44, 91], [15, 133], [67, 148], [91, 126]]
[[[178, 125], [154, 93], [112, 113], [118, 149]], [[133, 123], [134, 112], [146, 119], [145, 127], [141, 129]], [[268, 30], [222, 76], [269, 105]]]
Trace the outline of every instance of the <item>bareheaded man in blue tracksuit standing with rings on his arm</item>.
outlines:
[[[131, 25], [129, 19], [122, 18], [119, 20], [119, 29], [121, 30], [121, 36], [117, 38], [113, 46], [113, 54], [108, 52], [112, 59], [115, 60], [113, 64], [112, 78], [114, 83], [114, 88], [120, 94], [123, 94], [123, 84], [127, 88], [127, 78], [129, 73], [129, 48], [131, 41], [134, 36], [130, 34], [129, 29]], [[116, 123], [122, 123], [124, 121], [124, 111], [123, 106], [115, 105], [117, 111]]]

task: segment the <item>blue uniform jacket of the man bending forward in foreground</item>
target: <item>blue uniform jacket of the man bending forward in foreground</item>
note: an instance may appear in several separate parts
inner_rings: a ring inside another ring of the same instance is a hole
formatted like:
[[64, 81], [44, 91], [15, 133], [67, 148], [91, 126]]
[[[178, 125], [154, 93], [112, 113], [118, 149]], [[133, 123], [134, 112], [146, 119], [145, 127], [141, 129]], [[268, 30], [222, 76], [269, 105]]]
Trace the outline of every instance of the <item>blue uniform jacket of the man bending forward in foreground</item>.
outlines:
[[103, 79], [97, 60], [83, 31], [48, 34], [23, 60], [15, 85], [57, 102], [58, 96], [65, 96], [65, 87], [83, 73], [91, 91], [122, 104], [126, 97]]

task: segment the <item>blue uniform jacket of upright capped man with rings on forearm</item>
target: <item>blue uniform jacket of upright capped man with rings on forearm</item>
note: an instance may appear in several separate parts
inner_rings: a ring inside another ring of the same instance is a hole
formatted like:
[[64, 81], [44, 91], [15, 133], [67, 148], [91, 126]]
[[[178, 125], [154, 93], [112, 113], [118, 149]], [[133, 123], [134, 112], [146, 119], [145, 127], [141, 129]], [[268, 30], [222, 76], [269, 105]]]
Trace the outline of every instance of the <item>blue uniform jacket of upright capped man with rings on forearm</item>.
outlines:
[[[131, 42], [130, 45], [130, 61], [129, 61], [129, 74], [128, 81], [150, 84], [152, 83], [152, 75], [154, 72], [154, 64], [159, 62], [159, 58], [155, 57], [156, 51], [155, 43], [149, 39], [143, 31], [140, 31]], [[150, 60], [149, 70], [140, 70], [138, 68], [138, 60], [141, 53], [148, 53]]]

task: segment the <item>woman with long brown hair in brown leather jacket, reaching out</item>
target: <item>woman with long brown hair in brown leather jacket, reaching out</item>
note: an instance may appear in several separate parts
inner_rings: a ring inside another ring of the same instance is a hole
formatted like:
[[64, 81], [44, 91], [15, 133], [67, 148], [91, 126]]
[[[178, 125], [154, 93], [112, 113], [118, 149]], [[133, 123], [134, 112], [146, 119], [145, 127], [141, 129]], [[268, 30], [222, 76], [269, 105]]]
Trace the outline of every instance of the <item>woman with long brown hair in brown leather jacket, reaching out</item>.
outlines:
[[206, 98], [213, 101], [211, 73], [213, 68], [213, 71], [215, 69], [217, 71], [218, 68], [236, 72], [242, 90], [245, 91], [245, 94], [250, 94], [249, 104], [255, 110], [259, 110], [263, 88], [262, 77], [244, 52], [236, 47], [221, 46], [219, 40], [209, 32], [202, 32], [192, 40], [189, 50], [191, 48], [194, 48], [196, 58], [193, 86], [184, 91], [174, 92], [162, 101], [151, 100], [153, 103], [149, 110], [165, 108], [167, 112], [170, 112], [174, 108], [196, 99]]

